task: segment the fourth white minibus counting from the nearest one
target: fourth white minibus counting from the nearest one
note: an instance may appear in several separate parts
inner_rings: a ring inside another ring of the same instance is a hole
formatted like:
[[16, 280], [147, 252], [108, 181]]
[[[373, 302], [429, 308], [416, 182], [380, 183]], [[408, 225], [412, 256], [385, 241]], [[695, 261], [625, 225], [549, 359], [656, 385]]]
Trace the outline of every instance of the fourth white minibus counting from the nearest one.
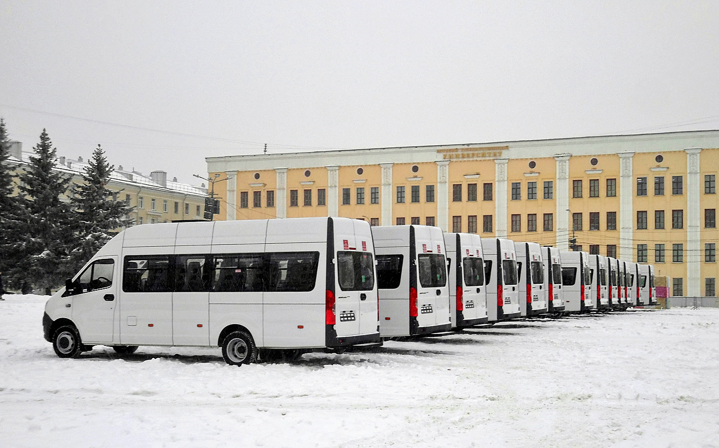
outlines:
[[517, 256], [514, 242], [505, 238], [482, 238], [487, 285], [487, 320], [516, 319], [519, 309]]

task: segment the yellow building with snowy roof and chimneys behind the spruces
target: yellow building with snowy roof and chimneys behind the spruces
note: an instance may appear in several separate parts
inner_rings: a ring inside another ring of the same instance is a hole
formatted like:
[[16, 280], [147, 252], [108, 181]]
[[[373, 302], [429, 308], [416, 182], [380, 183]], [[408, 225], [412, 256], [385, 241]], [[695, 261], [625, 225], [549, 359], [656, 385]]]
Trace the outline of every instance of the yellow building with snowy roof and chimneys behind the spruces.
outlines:
[[[29, 163], [32, 152], [23, 152], [21, 142], [10, 142], [10, 157], [8, 164], [18, 173], [24, 165]], [[70, 159], [59, 157], [56, 170], [70, 176], [70, 184], [81, 183], [84, 168], [87, 166], [82, 157]], [[15, 177], [17, 181], [17, 176]], [[167, 180], [165, 171], [153, 171], [150, 176], [142, 175], [137, 171], [126, 171], [122, 165], [111, 174], [107, 186], [110, 191], [117, 193], [119, 199], [124, 199], [132, 207], [130, 218], [133, 224], [154, 224], [188, 219], [202, 219], [204, 201], [207, 189], [179, 183], [177, 179]], [[16, 188], [17, 191], [17, 188]], [[70, 194], [68, 191], [67, 194]], [[61, 198], [70, 201], [69, 196]]]

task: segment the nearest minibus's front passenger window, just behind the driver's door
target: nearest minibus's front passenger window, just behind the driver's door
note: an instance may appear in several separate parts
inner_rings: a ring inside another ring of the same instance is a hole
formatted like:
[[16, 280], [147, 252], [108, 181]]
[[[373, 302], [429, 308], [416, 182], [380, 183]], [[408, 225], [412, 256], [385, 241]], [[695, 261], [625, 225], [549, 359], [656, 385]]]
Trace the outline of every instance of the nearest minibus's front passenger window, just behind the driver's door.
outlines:
[[170, 292], [170, 255], [125, 257], [122, 291], [126, 293]]

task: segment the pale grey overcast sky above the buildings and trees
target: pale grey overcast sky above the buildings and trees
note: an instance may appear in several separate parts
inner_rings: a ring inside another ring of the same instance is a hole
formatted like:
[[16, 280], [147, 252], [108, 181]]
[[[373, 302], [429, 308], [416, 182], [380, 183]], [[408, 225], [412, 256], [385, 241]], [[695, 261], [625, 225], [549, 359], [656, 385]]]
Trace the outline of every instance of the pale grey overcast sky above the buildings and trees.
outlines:
[[204, 157], [719, 129], [719, 1], [0, 3], [0, 116], [199, 183]]

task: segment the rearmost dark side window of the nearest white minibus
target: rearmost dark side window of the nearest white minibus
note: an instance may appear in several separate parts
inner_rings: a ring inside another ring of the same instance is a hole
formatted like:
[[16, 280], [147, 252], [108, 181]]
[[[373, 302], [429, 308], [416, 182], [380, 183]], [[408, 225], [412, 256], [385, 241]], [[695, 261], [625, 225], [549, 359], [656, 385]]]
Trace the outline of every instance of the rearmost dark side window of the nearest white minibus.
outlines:
[[319, 252], [273, 252], [268, 254], [265, 291], [312, 291], [317, 279]]

